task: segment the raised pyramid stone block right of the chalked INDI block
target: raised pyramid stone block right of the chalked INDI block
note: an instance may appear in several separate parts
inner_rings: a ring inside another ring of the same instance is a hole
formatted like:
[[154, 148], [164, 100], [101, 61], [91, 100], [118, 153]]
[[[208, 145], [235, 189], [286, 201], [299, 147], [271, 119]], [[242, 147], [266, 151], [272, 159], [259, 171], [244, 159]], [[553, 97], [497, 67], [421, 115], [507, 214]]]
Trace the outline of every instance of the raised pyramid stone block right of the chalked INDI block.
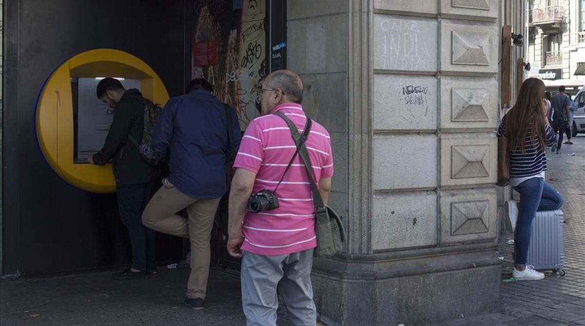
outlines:
[[441, 73], [478, 76], [497, 74], [499, 39], [495, 25], [443, 20]]

